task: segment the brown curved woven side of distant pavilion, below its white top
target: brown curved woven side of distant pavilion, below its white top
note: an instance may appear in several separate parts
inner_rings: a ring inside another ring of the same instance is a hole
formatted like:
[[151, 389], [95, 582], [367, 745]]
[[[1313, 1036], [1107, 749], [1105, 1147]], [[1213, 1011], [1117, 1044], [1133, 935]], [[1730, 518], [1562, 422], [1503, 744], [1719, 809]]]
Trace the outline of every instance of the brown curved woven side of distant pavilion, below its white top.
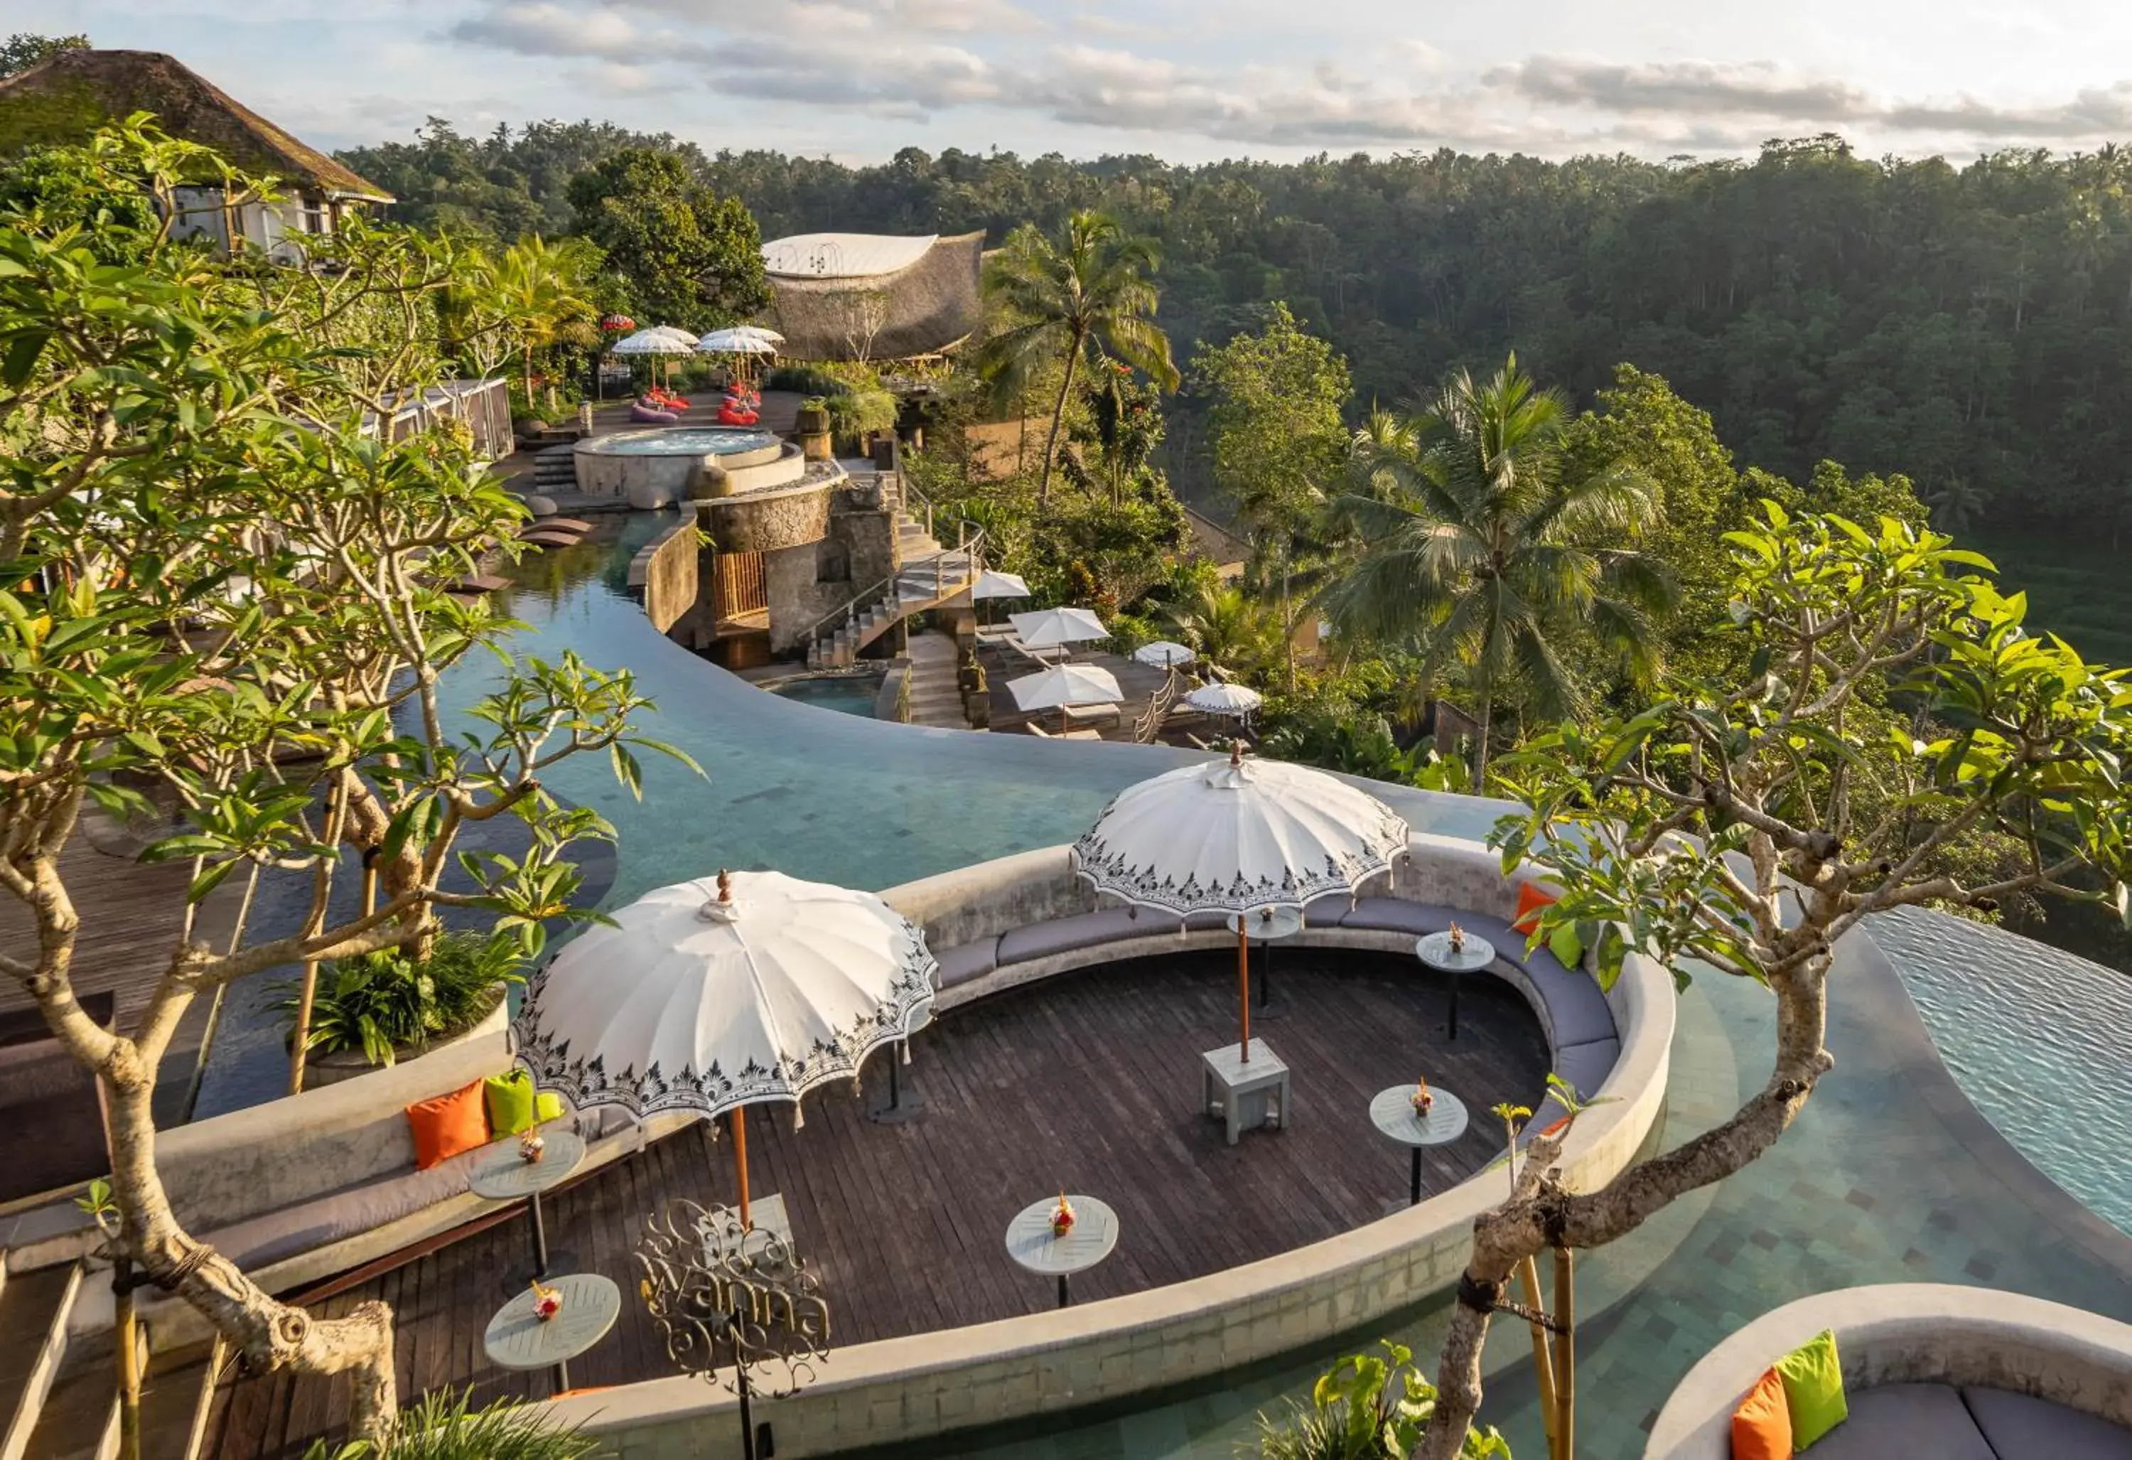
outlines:
[[[776, 243], [765, 243], [765, 256]], [[793, 360], [908, 360], [938, 354], [976, 332], [985, 234], [936, 239], [917, 262], [891, 273], [770, 275], [768, 322]]]

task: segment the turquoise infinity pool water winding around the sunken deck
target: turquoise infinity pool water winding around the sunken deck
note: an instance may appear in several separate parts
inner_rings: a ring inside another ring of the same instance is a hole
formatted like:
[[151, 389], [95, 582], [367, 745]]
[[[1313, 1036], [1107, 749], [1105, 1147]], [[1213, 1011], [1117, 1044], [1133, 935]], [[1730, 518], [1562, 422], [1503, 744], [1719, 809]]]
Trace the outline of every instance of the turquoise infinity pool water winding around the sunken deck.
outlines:
[[[1190, 759], [1158, 746], [1038, 742], [821, 714], [765, 695], [655, 633], [625, 593], [629, 554], [672, 522], [631, 514], [620, 537], [518, 565], [499, 607], [529, 624], [522, 648], [574, 648], [629, 667], [659, 701], [646, 731], [689, 748], [708, 772], [648, 759], [644, 801], [603, 761], [561, 763], [559, 795], [597, 806], [620, 833], [608, 906], [718, 865], [778, 867], [853, 887], [889, 887], [987, 857], [1079, 836], [1117, 789]], [[471, 661], [446, 682], [458, 708], [490, 671]], [[1499, 808], [1471, 797], [1379, 789], [1420, 829], [1480, 838]], [[1780, 1302], [1853, 1283], [1985, 1283], [2132, 1319], [2132, 1243], [2102, 1249], [2057, 1223], [2019, 1185], [1989, 1172], [1921, 1100], [1929, 1051], [1900, 1038], [1915, 1017], [1855, 970], [1831, 978], [1836, 1070], [1793, 1130], [1740, 1177], [1693, 1194], [1633, 1236], [1580, 1262], [1580, 1454], [1633, 1460], [1659, 1405], [1689, 1366]], [[1915, 985], [1912, 985], [1915, 987]], [[1919, 1000], [1925, 1004], [1927, 1000]], [[1927, 1015], [1929, 1019], [1932, 1015]], [[1989, 1015], [1976, 1044], [1998, 1038]], [[1959, 1021], [1959, 1017], [1957, 1017]], [[1680, 1002], [1665, 1142], [1738, 1106], [1767, 1076], [1774, 1006], [1755, 985], [1703, 974]], [[2049, 1029], [2038, 1036], [2049, 1042]], [[1917, 1036], [1917, 1042], [1923, 1034]], [[1949, 1064], [1957, 1064], [1949, 1057]], [[1934, 1072], [1936, 1074], [1936, 1072]], [[2062, 1066], [2019, 1066], [2013, 1089], [2091, 1119], [2087, 1089]], [[2119, 1110], [2128, 1108], [2123, 1100]], [[2121, 1147], [2119, 1147], [2121, 1149]], [[2121, 1170], [2121, 1159], [2106, 1170]], [[1433, 1351], [1439, 1311], [1390, 1332]], [[1064, 1415], [1040, 1428], [976, 1434], [942, 1454], [985, 1460], [1232, 1460], [1254, 1415], [1307, 1396], [1339, 1351], [1367, 1339], [1224, 1375], [1130, 1413]], [[1488, 1347], [1484, 1417], [1520, 1460], [1546, 1454], [1529, 1341], [1499, 1324]]]

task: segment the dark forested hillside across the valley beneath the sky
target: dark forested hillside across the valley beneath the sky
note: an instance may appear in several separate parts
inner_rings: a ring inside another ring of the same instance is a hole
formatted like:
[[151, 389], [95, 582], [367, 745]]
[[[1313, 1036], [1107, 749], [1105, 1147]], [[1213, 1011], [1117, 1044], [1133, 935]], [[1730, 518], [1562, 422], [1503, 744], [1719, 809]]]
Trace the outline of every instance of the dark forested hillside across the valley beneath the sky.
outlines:
[[[1955, 524], [2081, 524], [2132, 503], [2132, 156], [1874, 162], [1838, 139], [1755, 162], [1318, 158], [1170, 166], [900, 151], [881, 166], [542, 124], [343, 153], [414, 222], [505, 237], [567, 222], [563, 183], [625, 143], [678, 147], [763, 237], [994, 239], [1100, 205], [1162, 241], [1162, 320], [1190, 358], [1286, 298], [1407, 399], [1509, 347], [1580, 396], [1629, 360], [1706, 405], [1744, 463], [1904, 471]], [[1190, 416], [1190, 403], [1185, 403]]]

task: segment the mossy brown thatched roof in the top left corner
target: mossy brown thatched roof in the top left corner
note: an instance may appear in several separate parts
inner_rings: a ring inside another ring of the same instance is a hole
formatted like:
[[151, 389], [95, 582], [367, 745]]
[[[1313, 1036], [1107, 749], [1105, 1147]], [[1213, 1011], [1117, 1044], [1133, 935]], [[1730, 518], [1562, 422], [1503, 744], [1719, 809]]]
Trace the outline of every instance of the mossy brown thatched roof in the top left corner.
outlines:
[[60, 51], [0, 81], [0, 153], [85, 143], [104, 121], [154, 111], [156, 126], [213, 147], [232, 166], [328, 198], [392, 202], [377, 183], [305, 147], [162, 51]]

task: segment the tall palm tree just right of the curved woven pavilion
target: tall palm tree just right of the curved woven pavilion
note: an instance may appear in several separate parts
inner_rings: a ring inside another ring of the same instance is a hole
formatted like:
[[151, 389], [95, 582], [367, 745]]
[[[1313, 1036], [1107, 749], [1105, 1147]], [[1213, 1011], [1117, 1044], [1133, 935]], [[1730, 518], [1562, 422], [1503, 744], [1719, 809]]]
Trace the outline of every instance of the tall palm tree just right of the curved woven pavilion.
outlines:
[[1079, 211], [1066, 220], [1064, 247], [1023, 224], [985, 264], [985, 298], [1006, 324], [985, 341], [979, 371], [1000, 396], [1013, 396], [1047, 362], [1064, 364], [1051, 403], [1051, 435], [1036, 505], [1051, 503], [1051, 465], [1075, 375], [1109, 356], [1145, 371], [1164, 390], [1177, 390], [1170, 341], [1156, 326], [1156, 245], [1130, 237], [1104, 213]]

